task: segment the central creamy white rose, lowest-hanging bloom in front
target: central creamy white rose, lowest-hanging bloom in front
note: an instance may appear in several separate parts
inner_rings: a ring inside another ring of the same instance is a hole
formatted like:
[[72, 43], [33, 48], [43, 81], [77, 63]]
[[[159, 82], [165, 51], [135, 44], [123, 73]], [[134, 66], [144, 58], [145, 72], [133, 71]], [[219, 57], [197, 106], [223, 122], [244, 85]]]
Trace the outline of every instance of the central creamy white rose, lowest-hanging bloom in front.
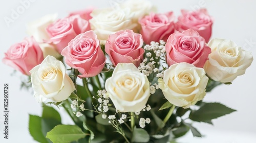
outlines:
[[118, 63], [105, 89], [120, 112], [138, 112], [150, 97], [150, 82], [133, 63]]

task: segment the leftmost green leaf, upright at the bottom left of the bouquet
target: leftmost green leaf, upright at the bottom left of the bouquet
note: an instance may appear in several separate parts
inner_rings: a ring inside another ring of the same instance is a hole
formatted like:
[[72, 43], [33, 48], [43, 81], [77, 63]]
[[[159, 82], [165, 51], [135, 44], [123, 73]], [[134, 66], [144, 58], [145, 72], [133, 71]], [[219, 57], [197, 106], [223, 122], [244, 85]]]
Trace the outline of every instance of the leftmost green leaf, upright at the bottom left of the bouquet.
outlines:
[[29, 132], [34, 140], [42, 143], [48, 143], [46, 137], [41, 130], [41, 117], [29, 115]]

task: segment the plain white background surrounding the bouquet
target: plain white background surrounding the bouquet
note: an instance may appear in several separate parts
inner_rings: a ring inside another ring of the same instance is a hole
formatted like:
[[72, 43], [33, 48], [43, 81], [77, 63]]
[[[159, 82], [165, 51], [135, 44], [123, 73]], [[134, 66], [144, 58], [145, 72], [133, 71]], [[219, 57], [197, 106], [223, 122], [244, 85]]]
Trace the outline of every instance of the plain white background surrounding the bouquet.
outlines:
[[[81, 10], [93, 6], [95, 8], [110, 7], [111, 2], [122, 2], [122, 0], [94, 0], [94, 1], [39, 1], [34, 0], [25, 11], [10, 23], [9, 27], [4, 17], [11, 17], [12, 9], [16, 10], [22, 4], [18, 1], [1, 1], [0, 3], [0, 59], [4, 52], [15, 42], [23, 40], [26, 35], [26, 23], [38, 19], [46, 14], [58, 13], [59, 18], [65, 17], [69, 12]], [[22, 0], [25, 1], [25, 0]], [[174, 11], [180, 14], [180, 9], [194, 10], [198, 7], [207, 8], [209, 14], [215, 18], [211, 38], [231, 39], [245, 50], [252, 52], [256, 57], [256, 1], [154, 1], [151, 2], [158, 8], [158, 12]], [[9, 139], [3, 135], [3, 93], [0, 93], [0, 142], [34, 142], [28, 132], [28, 114], [41, 114], [41, 105], [36, 103], [32, 92], [20, 90], [20, 74], [11, 76], [13, 69], [1, 64], [0, 87], [9, 83]], [[256, 63], [246, 70], [246, 74], [238, 77], [232, 85], [221, 85], [215, 88], [205, 97], [207, 102], [221, 102], [237, 112], [214, 120], [214, 127], [207, 124], [195, 124], [199, 131], [205, 135], [204, 138], [193, 137], [188, 133], [180, 142], [256, 142], [256, 111], [255, 93]], [[70, 123], [69, 118], [63, 115], [63, 123]]]

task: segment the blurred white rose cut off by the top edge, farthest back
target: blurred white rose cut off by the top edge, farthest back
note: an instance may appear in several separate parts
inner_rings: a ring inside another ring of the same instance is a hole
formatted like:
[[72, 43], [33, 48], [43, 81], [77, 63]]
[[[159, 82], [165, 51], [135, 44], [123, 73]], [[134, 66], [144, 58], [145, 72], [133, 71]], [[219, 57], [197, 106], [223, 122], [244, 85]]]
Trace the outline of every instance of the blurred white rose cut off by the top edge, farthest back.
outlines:
[[120, 4], [120, 8], [130, 8], [133, 13], [133, 20], [138, 22], [139, 18], [155, 12], [156, 8], [150, 1], [147, 0], [129, 0]]

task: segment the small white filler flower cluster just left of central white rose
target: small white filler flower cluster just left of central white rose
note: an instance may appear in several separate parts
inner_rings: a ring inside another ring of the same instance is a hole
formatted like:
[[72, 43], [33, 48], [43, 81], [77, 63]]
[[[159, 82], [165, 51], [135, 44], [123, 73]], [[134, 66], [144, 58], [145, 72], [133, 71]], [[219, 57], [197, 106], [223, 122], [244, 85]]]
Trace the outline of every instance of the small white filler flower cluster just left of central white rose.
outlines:
[[[97, 97], [98, 97], [97, 101], [99, 103], [98, 111], [103, 112], [103, 114], [104, 114], [105, 112], [109, 111], [109, 106], [108, 106], [108, 104], [110, 102], [109, 97], [106, 95], [106, 90], [105, 89], [98, 90], [97, 93], [98, 93], [97, 94]], [[93, 98], [95, 98], [95, 97], [93, 97]], [[104, 118], [104, 117], [105, 116], [102, 116], [102, 118]]]

